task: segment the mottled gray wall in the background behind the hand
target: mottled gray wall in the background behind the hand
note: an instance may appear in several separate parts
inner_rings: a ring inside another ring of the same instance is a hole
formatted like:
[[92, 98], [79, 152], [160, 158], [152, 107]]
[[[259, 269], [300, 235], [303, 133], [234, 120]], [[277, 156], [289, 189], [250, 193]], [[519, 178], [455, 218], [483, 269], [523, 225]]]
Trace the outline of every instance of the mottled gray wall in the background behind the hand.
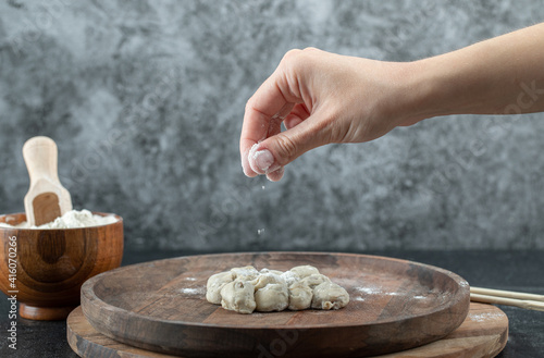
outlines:
[[[292, 48], [409, 61], [544, 20], [540, 1], [2, 1], [0, 212], [57, 140], [76, 208], [131, 248], [544, 248], [544, 115], [424, 121], [246, 178], [245, 101]], [[260, 233], [260, 234], [259, 234]]]

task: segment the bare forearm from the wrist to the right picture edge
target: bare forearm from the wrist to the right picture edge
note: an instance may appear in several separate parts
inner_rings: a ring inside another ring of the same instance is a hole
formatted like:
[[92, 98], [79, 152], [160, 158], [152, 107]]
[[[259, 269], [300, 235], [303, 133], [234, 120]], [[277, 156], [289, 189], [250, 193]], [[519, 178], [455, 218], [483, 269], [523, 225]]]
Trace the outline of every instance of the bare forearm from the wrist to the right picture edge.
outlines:
[[544, 111], [544, 24], [410, 64], [417, 120]]

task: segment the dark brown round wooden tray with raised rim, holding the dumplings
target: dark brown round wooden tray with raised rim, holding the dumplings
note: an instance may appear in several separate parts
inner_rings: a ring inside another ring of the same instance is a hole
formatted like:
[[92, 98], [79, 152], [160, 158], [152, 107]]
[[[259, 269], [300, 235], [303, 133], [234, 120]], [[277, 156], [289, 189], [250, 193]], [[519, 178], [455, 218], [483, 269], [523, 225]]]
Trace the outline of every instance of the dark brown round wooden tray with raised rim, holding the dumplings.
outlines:
[[[344, 286], [336, 311], [239, 314], [209, 304], [206, 282], [251, 264], [286, 271], [311, 264]], [[102, 273], [82, 287], [82, 309], [103, 335], [186, 357], [363, 357], [437, 341], [465, 320], [469, 286], [434, 267], [351, 254], [189, 256]]]

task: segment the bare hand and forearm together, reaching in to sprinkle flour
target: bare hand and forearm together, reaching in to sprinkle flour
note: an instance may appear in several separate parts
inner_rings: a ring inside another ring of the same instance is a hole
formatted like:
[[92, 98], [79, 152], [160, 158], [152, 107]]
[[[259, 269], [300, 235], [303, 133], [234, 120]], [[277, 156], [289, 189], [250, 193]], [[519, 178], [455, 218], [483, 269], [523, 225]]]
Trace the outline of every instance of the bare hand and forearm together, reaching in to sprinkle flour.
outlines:
[[292, 50], [246, 104], [244, 173], [279, 181], [312, 148], [431, 116], [543, 112], [543, 39], [544, 23], [406, 63]]

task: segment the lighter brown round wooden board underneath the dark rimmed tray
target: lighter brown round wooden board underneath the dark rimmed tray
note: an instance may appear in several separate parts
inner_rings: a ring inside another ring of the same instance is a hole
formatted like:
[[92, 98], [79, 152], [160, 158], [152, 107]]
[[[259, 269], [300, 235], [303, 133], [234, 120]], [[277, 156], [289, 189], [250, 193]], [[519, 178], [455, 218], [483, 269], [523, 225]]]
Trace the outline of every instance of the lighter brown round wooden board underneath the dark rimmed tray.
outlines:
[[[83, 358], [178, 357], [132, 347], [100, 334], [87, 321], [81, 307], [72, 311], [67, 318], [66, 332], [70, 346]], [[507, 341], [508, 318], [506, 314], [495, 306], [472, 303], [465, 322], [446, 337], [421, 347], [380, 357], [491, 358], [503, 350]]]

